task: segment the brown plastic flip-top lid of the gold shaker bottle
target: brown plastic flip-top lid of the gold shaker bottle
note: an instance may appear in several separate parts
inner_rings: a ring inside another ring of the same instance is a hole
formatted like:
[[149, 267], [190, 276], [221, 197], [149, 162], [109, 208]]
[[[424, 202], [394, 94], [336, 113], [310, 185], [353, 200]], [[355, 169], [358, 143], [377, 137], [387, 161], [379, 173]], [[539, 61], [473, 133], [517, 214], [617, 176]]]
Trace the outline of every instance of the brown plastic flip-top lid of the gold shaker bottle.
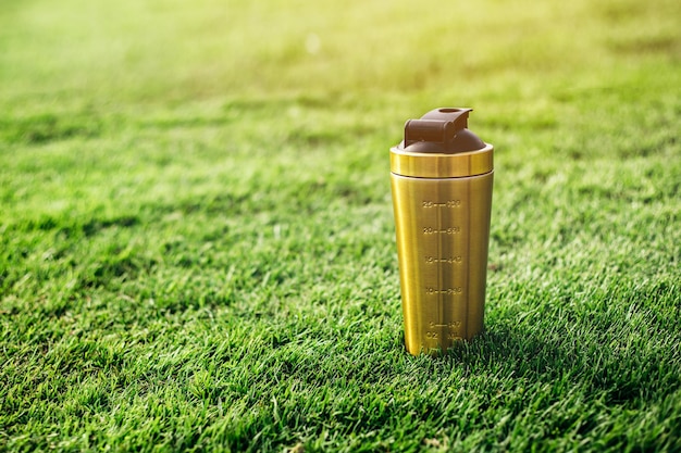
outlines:
[[430, 154], [456, 154], [485, 148], [485, 143], [468, 129], [468, 114], [472, 110], [441, 108], [420, 119], [409, 119], [405, 124], [405, 141], [399, 148]]

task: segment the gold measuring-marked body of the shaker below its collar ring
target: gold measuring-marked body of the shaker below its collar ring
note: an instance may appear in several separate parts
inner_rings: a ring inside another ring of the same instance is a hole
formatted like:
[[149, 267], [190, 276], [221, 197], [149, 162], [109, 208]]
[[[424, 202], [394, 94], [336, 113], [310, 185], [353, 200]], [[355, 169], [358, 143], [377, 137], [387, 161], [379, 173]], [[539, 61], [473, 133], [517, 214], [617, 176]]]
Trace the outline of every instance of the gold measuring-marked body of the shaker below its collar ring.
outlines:
[[483, 329], [494, 171], [420, 178], [391, 173], [405, 318], [412, 354]]

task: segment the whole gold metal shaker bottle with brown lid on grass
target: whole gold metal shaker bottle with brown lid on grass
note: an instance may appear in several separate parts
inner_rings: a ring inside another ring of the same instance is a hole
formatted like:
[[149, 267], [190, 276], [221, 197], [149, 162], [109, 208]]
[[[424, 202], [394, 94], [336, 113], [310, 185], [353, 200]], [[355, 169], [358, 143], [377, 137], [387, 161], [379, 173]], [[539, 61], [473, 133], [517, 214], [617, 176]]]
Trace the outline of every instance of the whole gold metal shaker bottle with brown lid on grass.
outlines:
[[414, 355], [483, 329], [494, 148], [468, 130], [470, 111], [410, 119], [391, 149], [405, 343]]

